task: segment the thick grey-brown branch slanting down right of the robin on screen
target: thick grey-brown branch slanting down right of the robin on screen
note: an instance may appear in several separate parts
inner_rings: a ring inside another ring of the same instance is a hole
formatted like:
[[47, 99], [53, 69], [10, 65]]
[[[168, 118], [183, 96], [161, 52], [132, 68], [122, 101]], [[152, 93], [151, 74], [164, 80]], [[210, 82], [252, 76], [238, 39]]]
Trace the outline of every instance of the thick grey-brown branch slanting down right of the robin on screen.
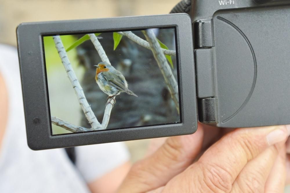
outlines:
[[164, 53], [161, 50], [160, 44], [158, 43], [155, 34], [152, 30], [142, 31], [147, 41], [149, 42], [151, 51], [153, 52], [154, 58], [163, 74], [166, 85], [168, 86], [171, 98], [175, 103], [177, 112], [179, 113], [179, 97], [178, 97], [178, 84], [173, 76], [170, 65], [168, 64]]

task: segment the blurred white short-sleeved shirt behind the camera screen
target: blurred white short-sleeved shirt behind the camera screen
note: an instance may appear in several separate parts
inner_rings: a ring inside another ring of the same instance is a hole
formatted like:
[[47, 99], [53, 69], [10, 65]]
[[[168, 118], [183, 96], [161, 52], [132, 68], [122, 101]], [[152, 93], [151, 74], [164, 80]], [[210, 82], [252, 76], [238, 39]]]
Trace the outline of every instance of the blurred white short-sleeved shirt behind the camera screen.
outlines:
[[15, 48], [0, 44], [0, 73], [8, 88], [9, 100], [8, 124], [0, 150], [1, 193], [90, 192], [88, 182], [128, 161], [124, 143], [76, 147], [76, 165], [64, 149], [30, 150]]

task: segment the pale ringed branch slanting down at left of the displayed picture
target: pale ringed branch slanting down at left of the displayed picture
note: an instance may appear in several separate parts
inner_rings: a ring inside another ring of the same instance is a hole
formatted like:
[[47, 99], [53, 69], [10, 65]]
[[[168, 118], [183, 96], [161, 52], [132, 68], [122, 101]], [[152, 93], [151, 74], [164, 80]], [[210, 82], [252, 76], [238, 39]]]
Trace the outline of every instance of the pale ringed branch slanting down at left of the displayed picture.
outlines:
[[88, 122], [92, 126], [94, 130], [100, 130], [103, 129], [102, 125], [97, 120], [94, 112], [92, 111], [90, 105], [88, 104], [88, 101], [85, 97], [84, 91], [77, 79], [77, 76], [75, 75], [75, 72], [70, 64], [70, 61], [68, 59], [68, 56], [66, 54], [66, 50], [64, 49], [64, 45], [62, 44], [62, 41], [60, 37], [53, 36], [53, 40], [55, 42], [55, 46], [57, 49], [57, 52], [59, 53], [59, 57], [61, 58], [62, 64], [64, 65], [64, 68], [66, 69], [66, 73], [68, 75], [68, 78], [73, 85], [73, 88], [75, 90], [75, 94], [77, 95], [77, 98], [79, 100], [79, 104], [81, 105], [81, 108], [88, 119]]

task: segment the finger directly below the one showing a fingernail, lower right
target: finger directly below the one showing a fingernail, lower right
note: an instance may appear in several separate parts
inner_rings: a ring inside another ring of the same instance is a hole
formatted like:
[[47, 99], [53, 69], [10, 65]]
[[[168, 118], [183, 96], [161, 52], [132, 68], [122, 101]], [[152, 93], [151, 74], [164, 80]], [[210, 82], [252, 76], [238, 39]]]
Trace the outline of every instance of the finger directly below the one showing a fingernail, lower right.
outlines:
[[278, 156], [274, 145], [249, 161], [233, 183], [235, 192], [264, 192], [265, 183]]

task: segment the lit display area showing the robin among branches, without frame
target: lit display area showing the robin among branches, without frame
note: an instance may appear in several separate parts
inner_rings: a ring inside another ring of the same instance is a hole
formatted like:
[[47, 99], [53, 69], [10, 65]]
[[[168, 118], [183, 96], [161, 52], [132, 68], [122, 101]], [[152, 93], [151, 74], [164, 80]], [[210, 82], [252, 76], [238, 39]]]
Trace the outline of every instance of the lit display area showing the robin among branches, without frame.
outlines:
[[175, 28], [43, 36], [53, 135], [180, 123]]

